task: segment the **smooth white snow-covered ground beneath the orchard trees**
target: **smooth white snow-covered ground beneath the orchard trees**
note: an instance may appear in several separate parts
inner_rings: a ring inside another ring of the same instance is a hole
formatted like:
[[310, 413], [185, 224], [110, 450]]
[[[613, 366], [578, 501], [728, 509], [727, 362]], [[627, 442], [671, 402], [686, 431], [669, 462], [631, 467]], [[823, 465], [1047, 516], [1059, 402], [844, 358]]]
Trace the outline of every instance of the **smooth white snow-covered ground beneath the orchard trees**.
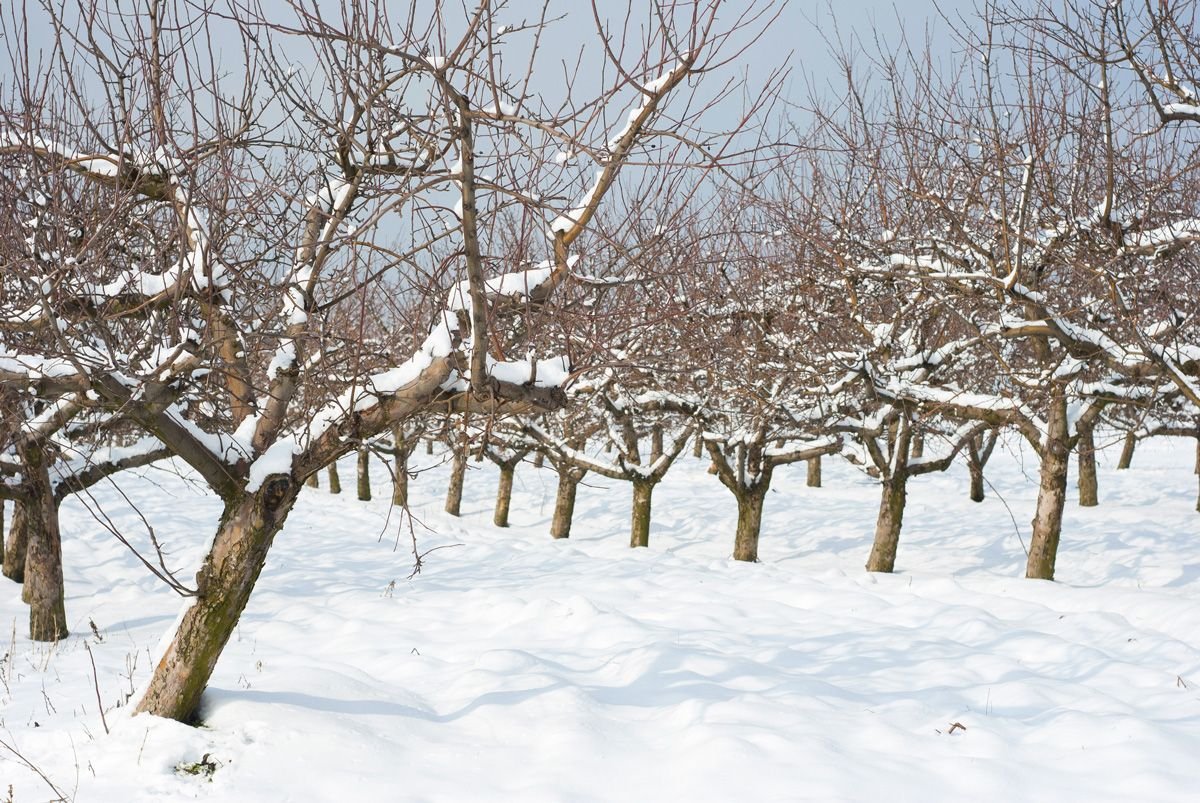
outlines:
[[[848, 465], [827, 460], [822, 489], [803, 466], [776, 475], [750, 565], [728, 559], [732, 497], [689, 457], [636, 551], [628, 486], [589, 478], [554, 543], [551, 469], [518, 469], [497, 529], [494, 471], [473, 463], [455, 520], [434, 465], [413, 483], [416, 534], [446, 549], [408, 579], [378, 467], [379, 501], [301, 496], [198, 729], [114, 708], [180, 601], [72, 502], [71, 639], [31, 645], [0, 582], [0, 738], [46, 775], [0, 748], [0, 799], [46, 801], [49, 781], [101, 802], [1195, 801], [1192, 450], [1151, 442], [1127, 472], [1106, 450], [1055, 583], [1021, 577], [1027, 454], [992, 459], [983, 504], [959, 466], [914, 480], [893, 576], [862, 568], [877, 497]], [[155, 469], [121, 489], [190, 579], [212, 499]], [[146, 543], [115, 491], [96, 496]], [[176, 769], [203, 761], [210, 778]]]

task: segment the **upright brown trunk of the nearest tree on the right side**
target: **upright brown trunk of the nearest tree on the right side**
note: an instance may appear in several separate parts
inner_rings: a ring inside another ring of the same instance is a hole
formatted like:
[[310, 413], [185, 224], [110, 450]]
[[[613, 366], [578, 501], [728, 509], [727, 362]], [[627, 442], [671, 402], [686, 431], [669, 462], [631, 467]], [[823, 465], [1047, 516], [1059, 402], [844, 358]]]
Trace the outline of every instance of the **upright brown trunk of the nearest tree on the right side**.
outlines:
[[1033, 537], [1025, 576], [1054, 580], [1054, 564], [1062, 534], [1062, 511], [1067, 501], [1067, 468], [1070, 448], [1067, 441], [1067, 396], [1055, 385], [1046, 417], [1046, 437], [1042, 445], [1038, 480], [1038, 507], [1033, 514]]

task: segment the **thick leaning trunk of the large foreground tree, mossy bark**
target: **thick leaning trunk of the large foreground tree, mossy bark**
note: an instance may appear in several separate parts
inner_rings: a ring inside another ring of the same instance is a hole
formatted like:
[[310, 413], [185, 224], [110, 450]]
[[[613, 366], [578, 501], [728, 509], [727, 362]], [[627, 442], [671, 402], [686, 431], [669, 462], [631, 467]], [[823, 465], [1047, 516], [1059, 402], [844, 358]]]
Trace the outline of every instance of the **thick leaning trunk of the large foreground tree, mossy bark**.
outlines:
[[198, 597], [155, 667], [138, 712], [193, 720], [298, 491], [287, 477], [272, 477], [254, 493], [226, 504], [212, 547], [196, 576]]

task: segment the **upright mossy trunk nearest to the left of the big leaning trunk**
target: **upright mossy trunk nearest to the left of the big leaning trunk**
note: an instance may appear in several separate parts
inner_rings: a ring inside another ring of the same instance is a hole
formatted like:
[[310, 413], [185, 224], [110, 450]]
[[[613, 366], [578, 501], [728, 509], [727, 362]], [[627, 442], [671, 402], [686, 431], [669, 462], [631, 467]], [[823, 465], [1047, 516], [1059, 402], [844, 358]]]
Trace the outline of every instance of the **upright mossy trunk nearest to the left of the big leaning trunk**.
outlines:
[[25, 485], [32, 499], [25, 520], [25, 586], [22, 599], [29, 603], [29, 637], [58, 641], [67, 636], [67, 612], [62, 589], [62, 543], [59, 538], [59, 507], [41, 447], [23, 450], [29, 473]]

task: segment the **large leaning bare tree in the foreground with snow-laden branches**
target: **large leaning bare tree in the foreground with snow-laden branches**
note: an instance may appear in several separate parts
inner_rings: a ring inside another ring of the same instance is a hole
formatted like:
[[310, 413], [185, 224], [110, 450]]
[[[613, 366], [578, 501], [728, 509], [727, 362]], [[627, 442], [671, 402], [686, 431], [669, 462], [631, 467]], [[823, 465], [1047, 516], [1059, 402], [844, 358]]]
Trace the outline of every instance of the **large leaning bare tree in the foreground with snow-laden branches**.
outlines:
[[[5, 269], [30, 276], [36, 304], [6, 304], [7, 319], [66, 320], [101, 353], [6, 335], [0, 382], [120, 409], [224, 505], [138, 703], [175, 719], [196, 712], [308, 475], [428, 411], [564, 403], [571, 366], [547, 302], [572, 250], [622, 168], [653, 169], [655, 125], [686, 131], [704, 107], [672, 116], [668, 96], [766, 20], [751, 8], [721, 28], [719, 4], [667, 2], [612, 25], [595, 10], [612, 72], [586, 100], [580, 76], [553, 107], [533, 82], [546, 14], [508, 28], [490, 2], [401, 19], [371, 0], [336, 19], [299, 0], [290, 12], [47, 5], [50, 68], [31, 74], [34, 54], [14, 50], [0, 119], [6, 175], [53, 173], [90, 200], [84, 232], [133, 232], [106, 238], [125, 258], [84, 271], [88, 244], [61, 224], [49, 259], [12, 257]], [[6, 42], [28, 41], [23, 19], [7, 24]], [[217, 38], [242, 55], [218, 61]], [[679, 163], [709, 163], [677, 142]], [[556, 152], [594, 169], [564, 170]], [[540, 262], [496, 248], [514, 216], [541, 238]], [[47, 283], [48, 271], [78, 278]], [[383, 348], [340, 336], [365, 310], [410, 325]], [[154, 353], [126, 348], [120, 326], [157, 332]]]

